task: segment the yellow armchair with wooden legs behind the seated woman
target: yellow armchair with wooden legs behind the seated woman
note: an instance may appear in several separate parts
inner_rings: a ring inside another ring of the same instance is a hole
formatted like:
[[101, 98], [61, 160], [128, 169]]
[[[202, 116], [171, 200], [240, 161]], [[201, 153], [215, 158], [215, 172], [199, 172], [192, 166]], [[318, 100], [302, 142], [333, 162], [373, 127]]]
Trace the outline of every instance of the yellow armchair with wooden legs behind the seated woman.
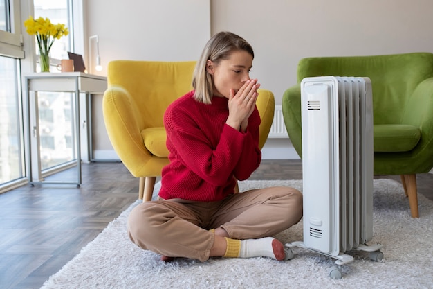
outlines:
[[[156, 177], [168, 161], [163, 124], [168, 105], [192, 89], [196, 62], [115, 60], [108, 65], [108, 88], [102, 108], [111, 144], [134, 177], [140, 178], [138, 197], [151, 200]], [[259, 90], [262, 148], [274, 115], [273, 93]]]

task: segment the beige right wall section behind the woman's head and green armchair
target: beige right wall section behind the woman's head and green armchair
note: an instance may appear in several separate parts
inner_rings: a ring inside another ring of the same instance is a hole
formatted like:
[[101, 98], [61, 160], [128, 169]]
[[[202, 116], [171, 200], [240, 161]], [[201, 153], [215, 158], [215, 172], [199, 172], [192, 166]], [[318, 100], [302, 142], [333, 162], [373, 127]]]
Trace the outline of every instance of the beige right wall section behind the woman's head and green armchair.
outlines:
[[216, 0], [212, 34], [252, 44], [253, 76], [279, 104], [301, 58], [433, 51], [432, 11], [432, 0]]

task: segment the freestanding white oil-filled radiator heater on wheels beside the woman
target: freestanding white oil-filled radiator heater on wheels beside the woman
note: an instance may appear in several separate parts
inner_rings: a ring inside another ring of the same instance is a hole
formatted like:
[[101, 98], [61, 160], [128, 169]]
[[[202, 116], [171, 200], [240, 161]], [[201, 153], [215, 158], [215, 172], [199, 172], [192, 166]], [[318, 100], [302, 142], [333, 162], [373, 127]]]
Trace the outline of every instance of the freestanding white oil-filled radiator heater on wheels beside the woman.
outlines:
[[[380, 260], [373, 237], [373, 109], [369, 78], [301, 82], [304, 241], [286, 244], [353, 261], [353, 249]], [[292, 256], [293, 253], [289, 252]], [[329, 276], [341, 278], [338, 266]]]

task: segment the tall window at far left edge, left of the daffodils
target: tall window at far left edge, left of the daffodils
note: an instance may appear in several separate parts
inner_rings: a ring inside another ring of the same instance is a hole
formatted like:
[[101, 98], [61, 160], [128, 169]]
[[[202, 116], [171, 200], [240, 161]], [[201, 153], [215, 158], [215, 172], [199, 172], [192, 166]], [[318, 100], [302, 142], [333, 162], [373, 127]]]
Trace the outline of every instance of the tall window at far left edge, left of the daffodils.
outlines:
[[0, 192], [24, 182], [19, 0], [0, 0]]

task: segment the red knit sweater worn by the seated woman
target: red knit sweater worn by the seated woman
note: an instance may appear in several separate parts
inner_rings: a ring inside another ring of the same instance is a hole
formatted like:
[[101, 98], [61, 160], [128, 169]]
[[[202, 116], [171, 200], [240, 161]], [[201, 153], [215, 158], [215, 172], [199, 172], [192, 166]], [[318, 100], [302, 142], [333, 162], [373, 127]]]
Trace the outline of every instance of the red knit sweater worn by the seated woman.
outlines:
[[201, 202], [234, 192], [234, 177], [248, 179], [261, 161], [257, 107], [246, 132], [226, 125], [228, 99], [199, 103], [193, 91], [178, 98], [164, 115], [170, 164], [163, 168], [161, 198]]

